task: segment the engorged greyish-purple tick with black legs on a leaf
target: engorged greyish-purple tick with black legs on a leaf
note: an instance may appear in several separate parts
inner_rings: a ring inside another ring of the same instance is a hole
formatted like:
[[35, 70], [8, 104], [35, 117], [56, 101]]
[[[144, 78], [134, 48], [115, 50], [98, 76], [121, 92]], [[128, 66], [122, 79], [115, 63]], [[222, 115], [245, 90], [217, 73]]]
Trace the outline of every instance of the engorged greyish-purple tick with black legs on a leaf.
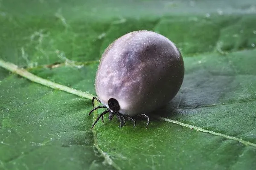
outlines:
[[[166, 105], [179, 91], [184, 77], [184, 62], [173, 42], [152, 31], [134, 31], [115, 40], [102, 54], [96, 73], [93, 109], [116, 116], [120, 127], [133, 116], [144, 116]], [[94, 108], [94, 100], [102, 106]], [[93, 127], [92, 126], [92, 127]]]

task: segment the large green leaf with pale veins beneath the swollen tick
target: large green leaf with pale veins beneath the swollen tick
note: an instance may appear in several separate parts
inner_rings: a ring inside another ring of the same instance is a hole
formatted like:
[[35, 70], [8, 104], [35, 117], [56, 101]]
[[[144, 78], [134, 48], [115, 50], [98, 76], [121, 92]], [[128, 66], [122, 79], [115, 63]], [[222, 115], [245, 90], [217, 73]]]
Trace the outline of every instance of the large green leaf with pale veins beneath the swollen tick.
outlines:
[[[0, 169], [255, 169], [255, 9], [253, 0], [0, 0]], [[181, 49], [179, 93], [148, 128], [106, 116], [91, 129], [101, 54], [142, 29]]]

